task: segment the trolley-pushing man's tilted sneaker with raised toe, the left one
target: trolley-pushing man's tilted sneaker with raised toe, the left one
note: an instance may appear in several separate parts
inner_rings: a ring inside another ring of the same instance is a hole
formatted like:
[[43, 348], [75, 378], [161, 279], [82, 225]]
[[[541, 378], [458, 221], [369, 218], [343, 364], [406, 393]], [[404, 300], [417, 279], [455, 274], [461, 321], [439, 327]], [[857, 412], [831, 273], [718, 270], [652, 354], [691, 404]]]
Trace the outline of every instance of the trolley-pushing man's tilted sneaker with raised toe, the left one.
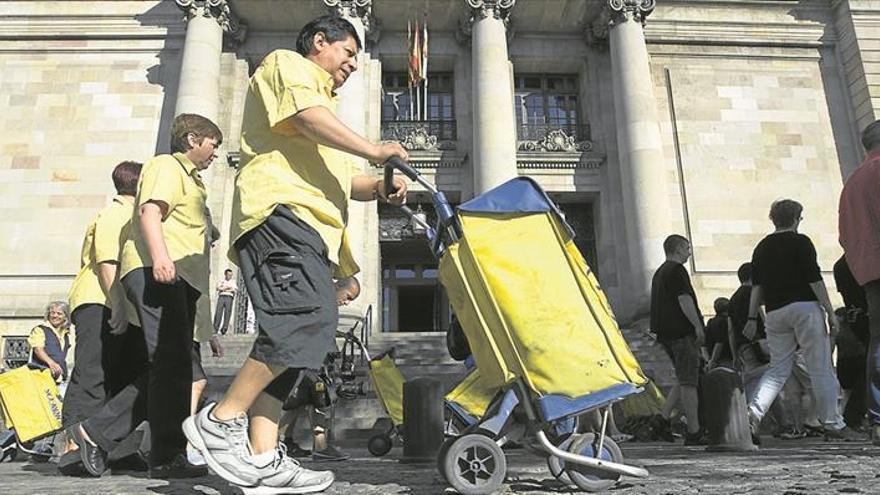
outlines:
[[209, 404], [183, 421], [183, 434], [221, 478], [239, 486], [254, 486], [260, 473], [251, 463], [248, 420], [244, 413], [229, 421], [209, 417], [216, 404]]

